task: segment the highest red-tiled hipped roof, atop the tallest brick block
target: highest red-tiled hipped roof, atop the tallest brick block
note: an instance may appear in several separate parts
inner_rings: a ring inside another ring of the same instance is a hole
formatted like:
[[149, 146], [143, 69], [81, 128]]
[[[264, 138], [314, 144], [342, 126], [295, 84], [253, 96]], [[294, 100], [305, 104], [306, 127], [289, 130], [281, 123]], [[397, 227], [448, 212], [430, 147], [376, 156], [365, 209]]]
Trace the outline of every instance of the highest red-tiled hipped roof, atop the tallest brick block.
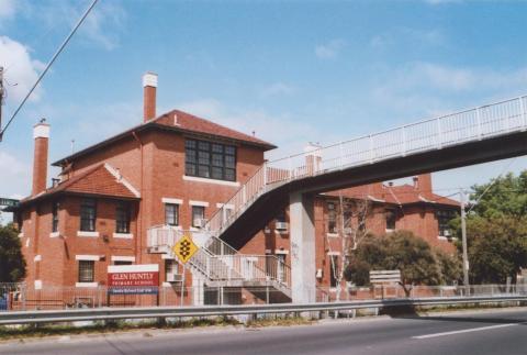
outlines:
[[156, 119], [153, 119], [150, 121], [136, 125], [108, 140], [104, 140], [82, 151], [79, 151], [75, 154], [64, 157], [53, 163], [52, 165], [61, 166], [65, 163], [74, 162], [75, 159], [81, 156], [85, 156], [87, 154], [90, 154], [91, 152], [106, 147], [108, 145], [114, 142], [128, 137], [133, 133], [142, 132], [146, 130], [164, 130], [164, 131], [188, 133], [188, 134], [193, 134], [193, 135], [204, 136], [204, 137], [212, 137], [212, 138], [220, 137], [220, 138], [233, 141], [235, 143], [251, 145], [264, 151], [270, 151], [277, 147], [276, 145], [265, 142], [262, 140], [259, 140], [255, 136], [228, 129], [221, 124], [211, 122], [209, 120], [195, 117], [193, 114], [190, 114], [180, 110], [172, 110], [159, 115]]

